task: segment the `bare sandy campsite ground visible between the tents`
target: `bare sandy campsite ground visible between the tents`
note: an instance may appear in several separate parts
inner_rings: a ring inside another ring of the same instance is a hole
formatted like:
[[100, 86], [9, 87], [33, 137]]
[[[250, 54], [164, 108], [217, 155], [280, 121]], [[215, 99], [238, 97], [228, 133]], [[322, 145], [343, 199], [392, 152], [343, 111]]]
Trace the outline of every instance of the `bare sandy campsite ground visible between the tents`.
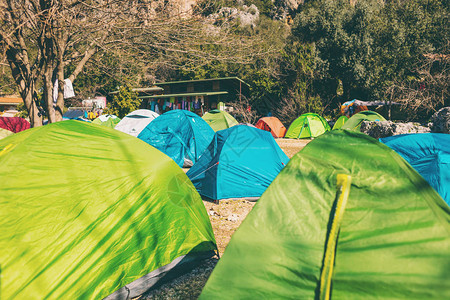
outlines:
[[[284, 153], [291, 158], [310, 140], [277, 139], [276, 141]], [[187, 170], [184, 169], [185, 172]], [[231, 236], [256, 202], [246, 199], [232, 199], [219, 202], [203, 200], [203, 203], [211, 220], [219, 253], [222, 255]], [[162, 285], [159, 289], [142, 296], [140, 299], [197, 299], [217, 261], [217, 258], [209, 259], [191, 272]]]

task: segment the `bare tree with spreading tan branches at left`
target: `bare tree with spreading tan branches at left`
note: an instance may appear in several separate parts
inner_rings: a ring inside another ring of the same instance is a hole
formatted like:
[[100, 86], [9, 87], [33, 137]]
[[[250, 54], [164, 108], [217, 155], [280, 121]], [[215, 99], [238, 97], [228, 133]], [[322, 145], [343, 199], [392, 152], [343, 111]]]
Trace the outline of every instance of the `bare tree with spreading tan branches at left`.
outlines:
[[[209, 28], [177, 1], [0, 0], [0, 43], [33, 126], [42, 124], [36, 91], [42, 85], [50, 122], [61, 120], [64, 79], [72, 82], [100, 53], [148, 69], [185, 57], [185, 62], [231, 59], [243, 40], [226, 28]], [[209, 28], [209, 29], [208, 29]], [[208, 57], [199, 45], [229, 52]], [[226, 58], [225, 58], [226, 57]], [[122, 63], [122, 62], [121, 62]], [[70, 72], [69, 72], [70, 71]], [[54, 104], [53, 85], [58, 79]]]

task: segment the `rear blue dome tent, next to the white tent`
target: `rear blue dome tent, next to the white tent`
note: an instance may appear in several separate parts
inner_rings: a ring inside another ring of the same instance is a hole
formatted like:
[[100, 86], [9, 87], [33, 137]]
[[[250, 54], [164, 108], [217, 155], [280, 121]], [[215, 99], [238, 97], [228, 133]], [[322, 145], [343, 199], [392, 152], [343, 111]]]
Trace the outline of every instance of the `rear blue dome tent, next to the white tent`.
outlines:
[[168, 111], [142, 130], [138, 138], [172, 158], [180, 167], [195, 163], [214, 137], [198, 115], [182, 109]]

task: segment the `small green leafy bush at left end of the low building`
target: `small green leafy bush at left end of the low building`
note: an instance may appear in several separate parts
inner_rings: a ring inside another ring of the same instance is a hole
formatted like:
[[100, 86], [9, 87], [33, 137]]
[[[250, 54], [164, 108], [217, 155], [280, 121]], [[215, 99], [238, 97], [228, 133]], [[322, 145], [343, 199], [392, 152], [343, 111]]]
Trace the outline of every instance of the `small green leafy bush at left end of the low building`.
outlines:
[[137, 110], [141, 102], [142, 100], [138, 98], [136, 92], [127, 84], [121, 86], [119, 93], [114, 95], [109, 104], [108, 113], [123, 118], [130, 112]]

